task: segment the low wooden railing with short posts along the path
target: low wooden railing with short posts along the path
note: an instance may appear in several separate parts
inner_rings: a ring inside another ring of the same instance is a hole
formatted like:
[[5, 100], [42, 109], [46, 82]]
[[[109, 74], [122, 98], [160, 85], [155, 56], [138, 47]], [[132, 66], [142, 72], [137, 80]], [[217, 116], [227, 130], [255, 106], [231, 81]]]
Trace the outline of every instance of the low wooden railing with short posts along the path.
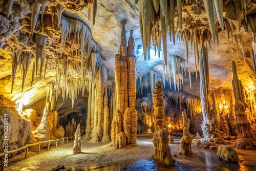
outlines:
[[[25, 151], [25, 159], [26, 159], [27, 156], [28, 156], [28, 147], [29, 147], [29, 146], [34, 146], [34, 145], [39, 144], [39, 147], [38, 147], [38, 154], [39, 154], [41, 143], [48, 142], [48, 150], [49, 150], [49, 149], [50, 149], [50, 142], [56, 141], [56, 147], [57, 147], [57, 145], [58, 145], [58, 140], [62, 140], [62, 144], [64, 144], [64, 140], [67, 138], [67, 143], [68, 143], [69, 137], [70, 137], [70, 136], [68, 136], [68, 137], [63, 137], [63, 138], [60, 138], [60, 139], [55, 139], [55, 140], [39, 141], [39, 142], [36, 142], [36, 143], [33, 143], [33, 144], [27, 144], [27, 145], [25, 145], [25, 146], [23, 146], [23, 147], [14, 149], [14, 150], [9, 151], [9, 152], [7, 152], [7, 153], [0, 153], [0, 157], [5, 156], [5, 154], [11, 154], [11, 153], [18, 152], [18, 151], [20, 151], [21, 149], [26, 148], [26, 151]], [[1, 171], [2, 171], [2, 170], [4, 170], [4, 168], [5, 168], [5, 165], [3, 165], [3, 164], [4, 164], [4, 157], [2, 157], [1, 163], [2, 163], [2, 165], [1, 165]]]

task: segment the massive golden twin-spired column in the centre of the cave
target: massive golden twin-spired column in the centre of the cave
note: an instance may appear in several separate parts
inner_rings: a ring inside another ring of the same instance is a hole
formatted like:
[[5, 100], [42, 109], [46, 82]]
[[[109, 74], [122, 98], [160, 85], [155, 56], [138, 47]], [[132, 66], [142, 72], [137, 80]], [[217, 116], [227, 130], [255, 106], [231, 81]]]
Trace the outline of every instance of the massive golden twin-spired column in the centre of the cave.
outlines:
[[134, 56], [134, 46], [133, 31], [130, 33], [127, 46], [126, 32], [123, 27], [120, 54], [116, 54], [115, 61], [116, 107], [111, 130], [111, 145], [116, 148], [122, 148], [125, 144], [136, 145], [136, 57]]

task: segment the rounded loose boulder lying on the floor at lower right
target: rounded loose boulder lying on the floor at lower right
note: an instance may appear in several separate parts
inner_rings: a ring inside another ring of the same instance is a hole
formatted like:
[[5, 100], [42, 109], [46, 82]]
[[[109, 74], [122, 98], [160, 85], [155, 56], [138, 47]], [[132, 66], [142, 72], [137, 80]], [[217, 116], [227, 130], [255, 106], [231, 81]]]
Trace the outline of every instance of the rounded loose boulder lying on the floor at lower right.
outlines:
[[233, 147], [220, 145], [217, 151], [217, 158], [225, 162], [238, 162], [239, 157]]

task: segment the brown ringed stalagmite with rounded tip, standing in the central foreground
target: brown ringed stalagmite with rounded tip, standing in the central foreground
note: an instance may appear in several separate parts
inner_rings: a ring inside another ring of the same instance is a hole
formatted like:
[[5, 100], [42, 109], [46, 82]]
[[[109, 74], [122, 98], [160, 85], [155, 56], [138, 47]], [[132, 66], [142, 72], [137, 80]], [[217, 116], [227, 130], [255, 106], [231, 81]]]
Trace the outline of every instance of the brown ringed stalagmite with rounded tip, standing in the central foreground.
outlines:
[[153, 143], [155, 146], [154, 160], [162, 161], [166, 164], [174, 164], [175, 160], [170, 154], [170, 147], [168, 144], [169, 132], [165, 124], [164, 108], [163, 108], [163, 88], [160, 81], [156, 83], [153, 95], [154, 116], [155, 116], [155, 133]]

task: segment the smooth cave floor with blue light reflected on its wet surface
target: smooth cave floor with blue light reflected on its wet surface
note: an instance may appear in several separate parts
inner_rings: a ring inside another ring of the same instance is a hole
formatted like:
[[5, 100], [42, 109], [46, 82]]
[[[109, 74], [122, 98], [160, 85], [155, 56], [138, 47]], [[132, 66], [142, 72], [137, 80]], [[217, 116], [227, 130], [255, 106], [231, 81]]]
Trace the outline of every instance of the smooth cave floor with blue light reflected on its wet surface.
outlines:
[[180, 138], [169, 144], [176, 160], [175, 166], [152, 160], [153, 135], [138, 135], [137, 146], [114, 149], [107, 143], [81, 143], [81, 153], [72, 155], [73, 141], [53, 148], [50, 151], [31, 156], [10, 164], [5, 170], [51, 170], [64, 165], [70, 170], [256, 170], [256, 151], [236, 149], [239, 163], [225, 163], [216, 157], [217, 150], [192, 146], [194, 155], [178, 155]]

